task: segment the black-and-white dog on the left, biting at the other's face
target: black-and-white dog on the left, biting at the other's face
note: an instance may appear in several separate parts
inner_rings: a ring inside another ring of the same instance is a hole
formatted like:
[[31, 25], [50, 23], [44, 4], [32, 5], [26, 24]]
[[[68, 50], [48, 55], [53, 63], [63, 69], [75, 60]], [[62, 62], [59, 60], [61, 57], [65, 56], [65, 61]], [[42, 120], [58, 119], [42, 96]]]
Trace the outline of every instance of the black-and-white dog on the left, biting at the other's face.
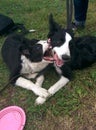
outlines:
[[[41, 72], [52, 63], [44, 60], [49, 50], [46, 40], [29, 40], [21, 34], [8, 36], [2, 46], [2, 57], [10, 70], [11, 83], [32, 90], [40, 97], [47, 97], [48, 91], [41, 88], [44, 81]], [[31, 78], [36, 78], [36, 83], [30, 81]]]

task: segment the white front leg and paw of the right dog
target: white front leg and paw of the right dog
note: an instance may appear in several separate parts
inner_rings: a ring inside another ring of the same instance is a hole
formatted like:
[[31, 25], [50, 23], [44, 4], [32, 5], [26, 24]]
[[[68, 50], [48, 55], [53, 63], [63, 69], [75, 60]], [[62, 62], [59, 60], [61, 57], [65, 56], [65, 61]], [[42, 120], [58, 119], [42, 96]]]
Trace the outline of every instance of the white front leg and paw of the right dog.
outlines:
[[64, 87], [67, 83], [69, 82], [69, 79], [64, 77], [64, 76], [61, 76], [61, 78], [59, 79], [59, 81], [57, 81], [53, 86], [51, 86], [49, 89], [48, 89], [48, 95], [46, 98], [42, 98], [42, 97], [38, 97], [36, 99], [36, 104], [39, 105], [39, 104], [43, 104], [46, 99], [52, 95], [54, 95], [57, 91], [59, 91], [62, 87]]

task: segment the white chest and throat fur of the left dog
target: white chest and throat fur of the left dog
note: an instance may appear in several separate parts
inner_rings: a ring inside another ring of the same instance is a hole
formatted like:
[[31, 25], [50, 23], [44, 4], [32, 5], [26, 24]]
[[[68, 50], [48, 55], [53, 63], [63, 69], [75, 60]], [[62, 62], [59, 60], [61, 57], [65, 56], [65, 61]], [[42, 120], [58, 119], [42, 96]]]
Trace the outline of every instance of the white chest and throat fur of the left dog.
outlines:
[[29, 59], [27, 59], [24, 55], [21, 56], [21, 60], [22, 60], [22, 69], [21, 69], [22, 74], [38, 73], [48, 65], [48, 63], [44, 63], [42, 61], [33, 63]]

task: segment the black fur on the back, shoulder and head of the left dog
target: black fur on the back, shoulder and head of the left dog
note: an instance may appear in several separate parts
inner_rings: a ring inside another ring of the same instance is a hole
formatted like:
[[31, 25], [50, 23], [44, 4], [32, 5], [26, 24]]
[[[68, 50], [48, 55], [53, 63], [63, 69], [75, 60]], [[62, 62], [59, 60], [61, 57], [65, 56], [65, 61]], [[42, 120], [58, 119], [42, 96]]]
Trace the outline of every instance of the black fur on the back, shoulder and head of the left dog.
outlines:
[[42, 46], [36, 44], [39, 40], [25, 38], [22, 34], [13, 34], [8, 36], [2, 47], [2, 57], [10, 69], [10, 79], [15, 80], [20, 76], [22, 68], [21, 55], [25, 55], [32, 62], [42, 60]]

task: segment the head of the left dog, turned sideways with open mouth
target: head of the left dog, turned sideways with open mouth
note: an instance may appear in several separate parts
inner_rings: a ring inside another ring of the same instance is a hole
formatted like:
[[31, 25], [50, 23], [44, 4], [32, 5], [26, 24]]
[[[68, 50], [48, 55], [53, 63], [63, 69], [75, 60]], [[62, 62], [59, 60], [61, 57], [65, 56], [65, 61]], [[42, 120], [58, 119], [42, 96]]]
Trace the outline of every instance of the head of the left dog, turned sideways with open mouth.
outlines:
[[[31, 62], [52, 62], [51, 60], [51, 46], [47, 40], [28, 40], [24, 41], [25, 43], [22, 46], [22, 53]], [[46, 57], [49, 59], [46, 60]]]

